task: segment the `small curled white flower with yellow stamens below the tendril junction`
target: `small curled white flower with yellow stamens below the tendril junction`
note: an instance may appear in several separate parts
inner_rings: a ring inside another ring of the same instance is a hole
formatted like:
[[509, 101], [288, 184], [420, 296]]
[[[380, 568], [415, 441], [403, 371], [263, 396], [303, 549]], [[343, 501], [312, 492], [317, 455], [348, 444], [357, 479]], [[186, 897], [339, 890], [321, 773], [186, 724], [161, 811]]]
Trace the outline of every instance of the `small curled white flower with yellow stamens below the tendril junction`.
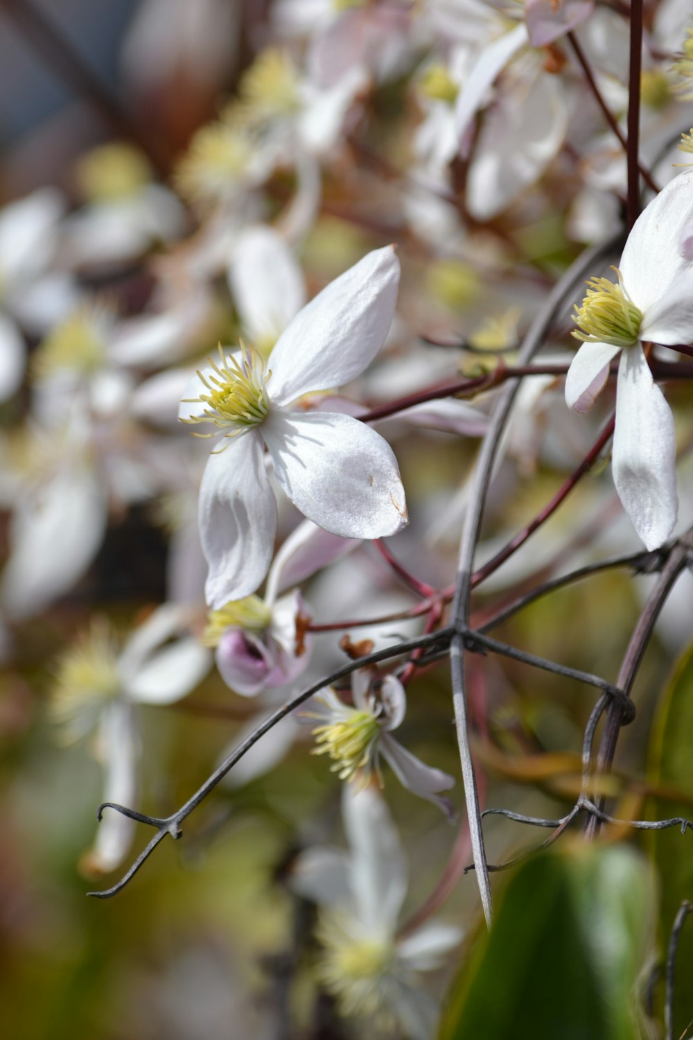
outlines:
[[328, 754], [334, 760], [332, 772], [358, 787], [370, 783], [373, 775], [380, 779], [382, 755], [407, 790], [434, 802], [453, 818], [452, 804], [439, 794], [454, 785], [453, 778], [426, 765], [392, 735], [406, 712], [406, 695], [399, 679], [385, 675], [380, 680], [376, 669], [362, 668], [353, 673], [351, 693], [353, 706], [341, 701], [331, 688], [315, 698], [314, 704], [321, 710], [306, 712], [309, 718], [322, 721], [313, 730], [318, 745], [314, 753]]

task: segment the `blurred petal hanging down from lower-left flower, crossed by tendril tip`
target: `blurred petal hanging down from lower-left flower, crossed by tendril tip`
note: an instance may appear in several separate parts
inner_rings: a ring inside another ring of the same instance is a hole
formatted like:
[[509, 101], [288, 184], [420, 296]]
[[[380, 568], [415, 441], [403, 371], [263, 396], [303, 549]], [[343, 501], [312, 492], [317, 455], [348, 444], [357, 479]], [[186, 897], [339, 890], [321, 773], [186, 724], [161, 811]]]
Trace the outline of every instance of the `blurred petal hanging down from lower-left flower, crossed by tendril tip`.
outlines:
[[[123, 703], [104, 710], [99, 732], [100, 758], [106, 773], [104, 802], [131, 806], [136, 795], [137, 736], [132, 709]], [[115, 809], [104, 809], [94, 847], [83, 865], [91, 874], [109, 874], [125, 859], [135, 831], [135, 822]]]

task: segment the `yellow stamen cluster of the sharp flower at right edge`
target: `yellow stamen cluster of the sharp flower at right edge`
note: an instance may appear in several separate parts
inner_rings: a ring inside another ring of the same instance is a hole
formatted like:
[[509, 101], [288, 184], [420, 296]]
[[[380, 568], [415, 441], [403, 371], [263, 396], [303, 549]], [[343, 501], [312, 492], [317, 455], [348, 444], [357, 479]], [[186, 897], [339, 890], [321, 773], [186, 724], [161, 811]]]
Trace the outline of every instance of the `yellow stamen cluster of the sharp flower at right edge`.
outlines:
[[612, 343], [614, 346], [632, 346], [638, 340], [642, 311], [628, 295], [621, 281], [592, 278], [582, 306], [575, 305], [574, 320], [578, 330], [572, 335], [585, 343]]

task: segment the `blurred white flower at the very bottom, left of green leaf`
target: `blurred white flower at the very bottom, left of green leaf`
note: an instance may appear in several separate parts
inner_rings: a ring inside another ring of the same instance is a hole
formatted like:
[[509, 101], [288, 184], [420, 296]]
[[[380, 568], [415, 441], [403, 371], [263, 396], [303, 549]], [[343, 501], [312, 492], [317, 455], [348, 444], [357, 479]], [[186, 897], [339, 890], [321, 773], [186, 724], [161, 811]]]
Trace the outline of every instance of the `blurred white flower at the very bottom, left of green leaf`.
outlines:
[[349, 854], [310, 849], [298, 857], [292, 878], [300, 895], [324, 908], [320, 980], [344, 1015], [430, 1040], [437, 1006], [421, 988], [419, 972], [438, 967], [461, 933], [429, 921], [397, 938], [406, 865], [388, 808], [373, 787], [356, 791], [345, 784], [342, 811]]

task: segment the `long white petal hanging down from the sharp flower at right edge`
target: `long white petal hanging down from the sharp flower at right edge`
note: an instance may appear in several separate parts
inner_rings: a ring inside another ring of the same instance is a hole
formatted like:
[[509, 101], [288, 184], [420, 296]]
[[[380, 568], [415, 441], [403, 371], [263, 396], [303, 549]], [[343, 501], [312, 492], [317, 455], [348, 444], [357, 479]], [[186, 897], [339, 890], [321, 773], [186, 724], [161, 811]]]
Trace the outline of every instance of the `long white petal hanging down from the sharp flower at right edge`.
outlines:
[[642, 347], [629, 347], [618, 368], [613, 474], [618, 497], [647, 549], [676, 522], [676, 439], [671, 410]]

